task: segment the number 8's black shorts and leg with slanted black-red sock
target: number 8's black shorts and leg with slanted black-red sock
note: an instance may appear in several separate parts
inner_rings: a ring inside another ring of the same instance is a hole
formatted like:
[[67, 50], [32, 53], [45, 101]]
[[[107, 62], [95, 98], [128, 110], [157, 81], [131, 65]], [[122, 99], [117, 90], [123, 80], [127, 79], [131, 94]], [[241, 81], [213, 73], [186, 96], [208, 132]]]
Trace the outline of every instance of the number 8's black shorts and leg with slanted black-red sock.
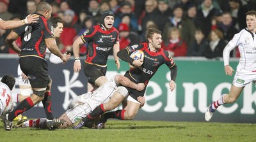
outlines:
[[[29, 64], [28, 64], [29, 62]], [[12, 122], [17, 115], [32, 108], [36, 103], [44, 99], [44, 94], [49, 83], [47, 62], [37, 57], [21, 57], [20, 69], [29, 77], [33, 94], [20, 102], [20, 104], [8, 115], [7, 120]]]

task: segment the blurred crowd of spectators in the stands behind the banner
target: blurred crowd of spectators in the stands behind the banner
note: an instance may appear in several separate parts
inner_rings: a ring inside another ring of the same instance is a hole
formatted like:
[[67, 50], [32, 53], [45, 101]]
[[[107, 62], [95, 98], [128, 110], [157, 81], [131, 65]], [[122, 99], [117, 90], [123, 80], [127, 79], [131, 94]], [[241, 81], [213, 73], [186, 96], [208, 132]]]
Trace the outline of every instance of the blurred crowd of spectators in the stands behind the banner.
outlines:
[[[42, 0], [0, 0], [3, 20], [20, 20], [35, 13]], [[57, 43], [61, 52], [72, 52], [72, 43], [86, 29], [99, 24], [102, 11], [115, 13], [114, 27], [120, 32], [120, 48], [138, 44], [145, 31], [162, 31], [163, 48], [173, 57], [222, 57], [234, 34], [246, 27], [245, 13], [256, 10], [254, 0], [46, 0], [52, 16], [61, 17], [64, 28]], [[10, 31], [0, 29], [0, 53], [13, 53], [4, 40]], [[20, 45], [20, 39], [15, 41]], [[80, 54], [86, 54], [87, 44]], [[237, 51], [231, 53], [237, 57]]]

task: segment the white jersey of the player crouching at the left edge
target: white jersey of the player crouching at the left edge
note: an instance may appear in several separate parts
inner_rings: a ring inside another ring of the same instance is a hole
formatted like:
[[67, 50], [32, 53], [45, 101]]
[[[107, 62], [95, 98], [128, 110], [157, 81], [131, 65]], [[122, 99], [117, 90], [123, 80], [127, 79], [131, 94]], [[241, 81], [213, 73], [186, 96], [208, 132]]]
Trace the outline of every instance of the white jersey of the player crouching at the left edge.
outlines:
[[0, 117], [13, 109], [12, 92], [9, 87], [0, 82]]

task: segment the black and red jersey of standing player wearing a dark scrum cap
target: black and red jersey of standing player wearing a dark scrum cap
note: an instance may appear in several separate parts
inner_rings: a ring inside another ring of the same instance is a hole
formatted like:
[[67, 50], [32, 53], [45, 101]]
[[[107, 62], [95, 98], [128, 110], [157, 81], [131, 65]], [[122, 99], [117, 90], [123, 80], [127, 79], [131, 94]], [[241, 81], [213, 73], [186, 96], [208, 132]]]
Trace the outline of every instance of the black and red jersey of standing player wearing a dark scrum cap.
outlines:
[[104, 31], [103, 25], [95, 25], [86, 30], [81, 39], [88, 43], [88, 53], [85, 62], [97, 66], [106, 66], [108, 55], [113, 46], [119, 42], [119, 32], [115, 27]]

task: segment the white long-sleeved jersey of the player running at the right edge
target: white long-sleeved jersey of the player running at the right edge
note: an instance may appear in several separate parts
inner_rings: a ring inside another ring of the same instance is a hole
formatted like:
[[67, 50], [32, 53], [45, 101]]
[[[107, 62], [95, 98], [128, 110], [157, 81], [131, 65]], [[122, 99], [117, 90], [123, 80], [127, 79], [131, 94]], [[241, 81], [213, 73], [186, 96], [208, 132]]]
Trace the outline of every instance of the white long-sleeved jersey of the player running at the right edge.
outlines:
[[223, 50], [224, 66], [229, 65], [230, 52], [238, 46], [240, 52], [237, 69], [256, 70], [256, 37], [255, 33], [243, 29], [235, 34]]

